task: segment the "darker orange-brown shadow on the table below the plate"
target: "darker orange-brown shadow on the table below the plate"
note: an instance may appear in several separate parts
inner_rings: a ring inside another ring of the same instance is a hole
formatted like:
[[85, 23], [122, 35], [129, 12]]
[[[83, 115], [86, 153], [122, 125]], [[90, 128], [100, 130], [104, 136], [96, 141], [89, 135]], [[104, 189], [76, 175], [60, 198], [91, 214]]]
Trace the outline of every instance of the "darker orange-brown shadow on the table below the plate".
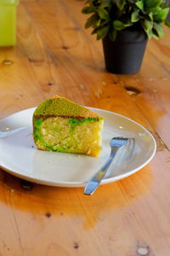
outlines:
[[8, 204], [13, 211], [44, 218], [82, 217], [85, 218], [83, 229], [88, 230], [105, 214], [114, 214], [139, 201], [150, 190], [152, 181], [150, 168], [145, 166], [130, 177], [99, 186], [94, 195], [83, 195], [83, 188], [28, 183], [0, 170], [0, 203]]

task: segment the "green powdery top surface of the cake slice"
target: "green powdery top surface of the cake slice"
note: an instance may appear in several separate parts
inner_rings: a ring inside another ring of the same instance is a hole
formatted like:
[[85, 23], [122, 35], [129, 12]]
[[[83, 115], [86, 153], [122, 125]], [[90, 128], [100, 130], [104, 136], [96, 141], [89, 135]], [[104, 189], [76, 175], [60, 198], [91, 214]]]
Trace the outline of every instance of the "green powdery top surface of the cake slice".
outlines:
[[43, 118], [49, 116], [61, 116], [67, 118], [72, 117], [74, 119], [104, 119], [98, 113], [94, 113], [94, 111], [60, 96], [54, 96], [45, 102], [42, 102], [34, 112], [33, 121], [41, 117], [41, 115]]

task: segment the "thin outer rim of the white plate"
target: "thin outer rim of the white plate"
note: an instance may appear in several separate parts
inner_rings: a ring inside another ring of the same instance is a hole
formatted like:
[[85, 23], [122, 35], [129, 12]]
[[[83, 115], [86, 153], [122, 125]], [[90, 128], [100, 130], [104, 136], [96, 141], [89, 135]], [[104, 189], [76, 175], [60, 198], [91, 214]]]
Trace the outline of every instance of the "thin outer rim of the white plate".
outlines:
[[[0, 125], [1, 125], [1, 122], [3, 122], [5, 119], [8, 119], [10, 118], [11, 116], [14, 116], [15, 114], [20, 114], [22, 112], [26, 112], [26, 111], [31, 111], [33, 109], [36, 109], [37, 107], [32, 107], [32, 108], [26, 108], [26, 109], [22, 109], [20, 111], [17, 111], [15, 113], [11, 113], [9, 114], [8, 116], [4, 117], [3, 119], [0, 119]], [[142, 128], [147, 134], [150, 135], [151, 139], [152, 139], [152, 142], [154, 144], [154, 148], [153, 148], [153, 152], [152, 154], [150, 155], [150, 158], [148, 160], [146, 160], [142, 165], [140, 165], [139, 167], [137, 168], [134, 168], [132, 171], [130, 172], [126, 172], [124, 174], [120, 174], [120, 175], [117, 175], [116, 177], [104, 177], [101, 181], [101, 185], [102, 184], [105, 184], [105, 183], [113, 183], [113, 182], [116, 182], [118, 180], [121, 180], [125, 177], [129, 177], [131, 175], [133, 175], [135, 172], [138, 172], [139, 170], [141, 170], [142, 168], [144, 168], [144, 166], [147, 166], [150, 162], [150, 160], [153, 159], [153, 157], [155, 156], [156, 154], [156, 140], [155, 138], [153, 137], [153, 135], [150, 133], [150, 131], [148, 131], [143, 125], [140, 125], [138, 122], [134, 121], [133, 119], [129, 119], [127, 118], [126, 116], [120, 114], [120, 113], [115, 113], [115, 112], [112, 112], [110, 110], [106, 110], [106, 109], [102, 109], [102, 108], [94, 108], [94, 107], [85, 107], [85, 108], [89, 108], [93, 111], [96, 111], [96, 110], [99, 110], [99, 111], [102, 111], [102, 112], [105, 112], [105, 113], [111, 113], [111, 114], [114, 114], [116, 116], [119, 116], [123, 119], [127, 119], [129, 120], [130, 122], [133, 122], [135, 125], [138, 125], [140, 128]], [[26, 175], [26, 174], [20, 174], [18, 172], [14, 172], [12, 169], [8, 169], [6, 168], [5, 166], [3, 166], [0, 162], [0, 168], [2, 168], [5, 172], [8, 172], [10, 173], [11, 175], [13, 175], [14, 177], [20, 177], [22, 179], [25, 179], [27, 181], [30, 181], [32, 183], [38, 183], [38, 184], [42, 184], [42, 185], [48, 185], [48, 186], [54, 186], [54, 187], [71, 187], [71, 188], [76, 188], [76, 187], [84, 187], [87, 183], [87, 181], [83, 181], [83, 182], [65, 182], [65, 181], [57, 181], [57, 182], [53, 182], [51, 180], [47, 180], [47, 178], [45, 180], [41, 179], [41, 178], [37, 178], [37, 177], [31, 177], [31, 175]]]

